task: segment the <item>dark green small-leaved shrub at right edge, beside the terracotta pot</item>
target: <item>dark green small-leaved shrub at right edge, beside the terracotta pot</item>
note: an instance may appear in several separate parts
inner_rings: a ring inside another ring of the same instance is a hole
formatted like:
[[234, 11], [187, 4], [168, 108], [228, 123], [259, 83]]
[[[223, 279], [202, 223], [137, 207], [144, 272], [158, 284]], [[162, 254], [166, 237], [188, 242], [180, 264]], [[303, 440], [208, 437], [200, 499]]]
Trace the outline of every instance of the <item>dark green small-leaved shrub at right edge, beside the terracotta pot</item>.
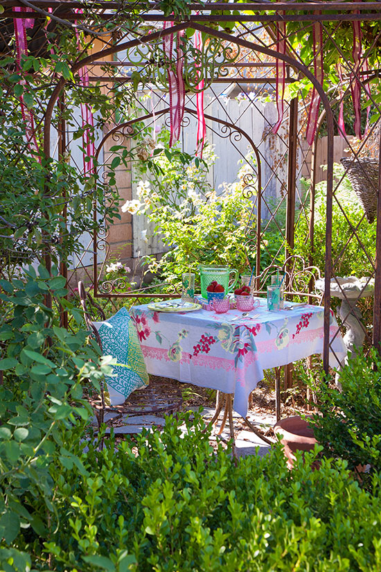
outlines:
[[381, 470], [380, 368], [373, 349], [343, 367], [341, 392], [324, 381], [315, 385], [321, 415], [314, 415], [314, 434], [324, 455], [345, 459], [349, 469], [370, 463], [371, 473]]

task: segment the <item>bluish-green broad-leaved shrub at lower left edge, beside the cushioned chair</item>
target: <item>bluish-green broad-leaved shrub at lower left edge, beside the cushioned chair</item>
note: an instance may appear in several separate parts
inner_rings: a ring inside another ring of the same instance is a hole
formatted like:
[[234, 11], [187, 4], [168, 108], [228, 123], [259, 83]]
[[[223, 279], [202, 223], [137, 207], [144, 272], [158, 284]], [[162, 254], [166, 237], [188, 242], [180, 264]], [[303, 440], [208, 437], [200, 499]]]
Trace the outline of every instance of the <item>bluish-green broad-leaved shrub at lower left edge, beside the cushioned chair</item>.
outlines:
[[[0, 280], [0, 569], [25, 572], [44, 538], [55, 506], [55, 471], [82, 463], [71, 451], [91, 411], [83, 395], [90, 380], [99, 388], [100, 350], [87, 333], [60, 328], [46, 294], [82, 316], [62, 296], [66, 280], [40, 266], [24, 280]], [[107, 360], [103, 360], [106, 363]], [[76, 437], [73, 437], [76, 431]], [[53, 467], [53, 468], [52, 468]]]

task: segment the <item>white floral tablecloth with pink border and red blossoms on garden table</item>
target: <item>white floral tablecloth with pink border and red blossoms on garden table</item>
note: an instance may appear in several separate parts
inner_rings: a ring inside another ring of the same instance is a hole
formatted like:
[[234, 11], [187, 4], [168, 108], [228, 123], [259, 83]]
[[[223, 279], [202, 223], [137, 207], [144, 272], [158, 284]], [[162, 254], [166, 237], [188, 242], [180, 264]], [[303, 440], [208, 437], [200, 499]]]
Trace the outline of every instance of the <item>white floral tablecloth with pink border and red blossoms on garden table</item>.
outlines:
[[[259, 308], [250, 313], [254, 319], [242, 318], [237, 310], [164, 313], [145, 305], [132, 307], [130, 315], [148, 373], [233, 393], [233, 408], [242, 417], [263, 370], [323, 352], [321, 306], [269, 312], [266, 300], [260, 299]], [[241, 318], [234, 320], [237, 316]], [[346, 356], [337, 330], [331, 312], [333, 367]]]

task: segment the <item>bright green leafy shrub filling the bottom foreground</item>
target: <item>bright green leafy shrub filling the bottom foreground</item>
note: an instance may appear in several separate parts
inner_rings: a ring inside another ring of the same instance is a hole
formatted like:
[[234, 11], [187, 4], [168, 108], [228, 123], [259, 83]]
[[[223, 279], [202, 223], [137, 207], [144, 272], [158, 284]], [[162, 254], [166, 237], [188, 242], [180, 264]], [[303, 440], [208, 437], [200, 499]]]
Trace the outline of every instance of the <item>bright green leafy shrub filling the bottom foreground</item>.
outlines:
[[[317, 452], [288, 471], [276, 447], [236, 465], [196, 415], [162, 433], [73, 444], [85, 469], [51, 468], [55, 514], [33, 549], [39, 570], [155, 572], [375, 571], [381, 565], [379, 480], [360, 489], [343, 462]], [[43, 542], [43, 540], [45, 540]]]

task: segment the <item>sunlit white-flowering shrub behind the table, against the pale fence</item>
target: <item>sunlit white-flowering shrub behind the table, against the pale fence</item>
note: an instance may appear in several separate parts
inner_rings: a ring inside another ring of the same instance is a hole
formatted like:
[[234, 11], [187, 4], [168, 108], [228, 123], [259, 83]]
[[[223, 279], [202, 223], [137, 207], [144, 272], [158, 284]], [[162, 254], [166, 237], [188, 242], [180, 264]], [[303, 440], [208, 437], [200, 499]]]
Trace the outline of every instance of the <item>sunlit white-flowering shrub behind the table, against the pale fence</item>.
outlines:
[[179, 277], [189, 266], [197, 272], [199, 263], [227, 265], [242, 272], [247, 265], [245, 228], [252, 207], [251, 199], [242, 193], [247, 164], [240, 169], [238, 182], [216, 191], [208, 182], [215, 159], [211, 148], [206, 148], [203, 160], [178, 148], [157, 151], [148, 162], [150, 170], [145, 164], [141, 167], [138, 199], [122, 207], [122, 211], [148, 216], [168, 249], [160, 261], [146, 257], [148, 270], [166, 279]]

